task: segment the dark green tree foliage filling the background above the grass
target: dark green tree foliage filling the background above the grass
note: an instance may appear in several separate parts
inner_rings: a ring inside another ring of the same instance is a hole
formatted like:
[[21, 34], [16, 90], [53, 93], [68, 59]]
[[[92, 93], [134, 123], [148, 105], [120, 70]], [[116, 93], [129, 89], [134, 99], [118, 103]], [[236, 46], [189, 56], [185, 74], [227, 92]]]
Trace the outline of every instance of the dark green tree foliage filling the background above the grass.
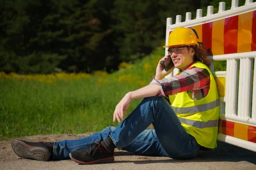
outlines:
[[[231, 0], [224, 0], [226, 9]], [[245, 0], [244, 0], [245, 1]], [[219, 0], [0, 0], [0, 71], [112, 71], [163, 45], [166, 18]], [[243, 2], [240, 2], [243, 3]], [[240, 4], [241, 5], [241, 4]], [[206, 10], [204, 10], [206, 11]]]

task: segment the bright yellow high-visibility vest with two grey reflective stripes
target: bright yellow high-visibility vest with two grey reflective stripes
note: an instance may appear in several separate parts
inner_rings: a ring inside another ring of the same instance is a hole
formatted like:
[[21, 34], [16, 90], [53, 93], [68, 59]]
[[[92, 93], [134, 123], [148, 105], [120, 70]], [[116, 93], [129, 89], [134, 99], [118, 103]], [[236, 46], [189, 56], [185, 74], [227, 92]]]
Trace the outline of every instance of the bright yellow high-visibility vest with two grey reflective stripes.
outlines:
[[216, 82], [206, 65], [196, 62], [190, 68], [192, 67], [205, 68], [209, 72], [210, 88], [207, 96], [194, 100], [191, 98], [191, 91], [185, 91], [169, 95], [169, 100], [186, 132], [194, 136], [201, 146], [213, 149], [217, 147], [220, 109]]

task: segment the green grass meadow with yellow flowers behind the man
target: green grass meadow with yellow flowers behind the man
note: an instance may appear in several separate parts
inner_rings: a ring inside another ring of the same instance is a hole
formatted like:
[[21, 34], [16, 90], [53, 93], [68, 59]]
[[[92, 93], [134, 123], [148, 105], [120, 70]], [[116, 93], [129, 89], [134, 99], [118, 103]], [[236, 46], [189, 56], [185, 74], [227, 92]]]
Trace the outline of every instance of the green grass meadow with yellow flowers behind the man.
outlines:
[[[0, 80], [0, 140], [38, 134], [85, 133], [117, 126], [119, 123], [113, 122], [115, 106], [128, 91], [149, 84], [163, 55], [164, 49], [158, 48], [131, 68], [105, 77], [58, 80], [53, 84]], [[105, 81], [99, 84], [99, 78]], [[131, 101], [125, 116], [141, 100]]]

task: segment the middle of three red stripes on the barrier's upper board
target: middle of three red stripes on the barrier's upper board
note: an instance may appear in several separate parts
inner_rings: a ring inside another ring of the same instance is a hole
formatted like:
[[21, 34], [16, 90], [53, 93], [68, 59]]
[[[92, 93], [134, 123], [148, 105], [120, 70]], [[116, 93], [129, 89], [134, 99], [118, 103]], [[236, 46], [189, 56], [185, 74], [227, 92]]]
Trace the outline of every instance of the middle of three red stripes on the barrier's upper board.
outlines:
[[237, 53], [239, 15], [225, 19], [224, 26], [224, 54]]

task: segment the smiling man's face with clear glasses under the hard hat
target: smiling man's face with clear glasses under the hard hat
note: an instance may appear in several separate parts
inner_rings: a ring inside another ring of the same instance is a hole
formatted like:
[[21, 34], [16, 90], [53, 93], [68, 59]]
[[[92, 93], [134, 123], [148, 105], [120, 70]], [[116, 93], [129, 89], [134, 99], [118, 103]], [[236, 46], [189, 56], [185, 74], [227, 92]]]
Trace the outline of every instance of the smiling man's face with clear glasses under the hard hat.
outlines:
[[175, 68], [180, 68], [182, 71], [193, 62], [193, 55], [195, 54], [193, 48], [188, 50], [186, 46], [169, 48], [168, 52], [171, 55]]

